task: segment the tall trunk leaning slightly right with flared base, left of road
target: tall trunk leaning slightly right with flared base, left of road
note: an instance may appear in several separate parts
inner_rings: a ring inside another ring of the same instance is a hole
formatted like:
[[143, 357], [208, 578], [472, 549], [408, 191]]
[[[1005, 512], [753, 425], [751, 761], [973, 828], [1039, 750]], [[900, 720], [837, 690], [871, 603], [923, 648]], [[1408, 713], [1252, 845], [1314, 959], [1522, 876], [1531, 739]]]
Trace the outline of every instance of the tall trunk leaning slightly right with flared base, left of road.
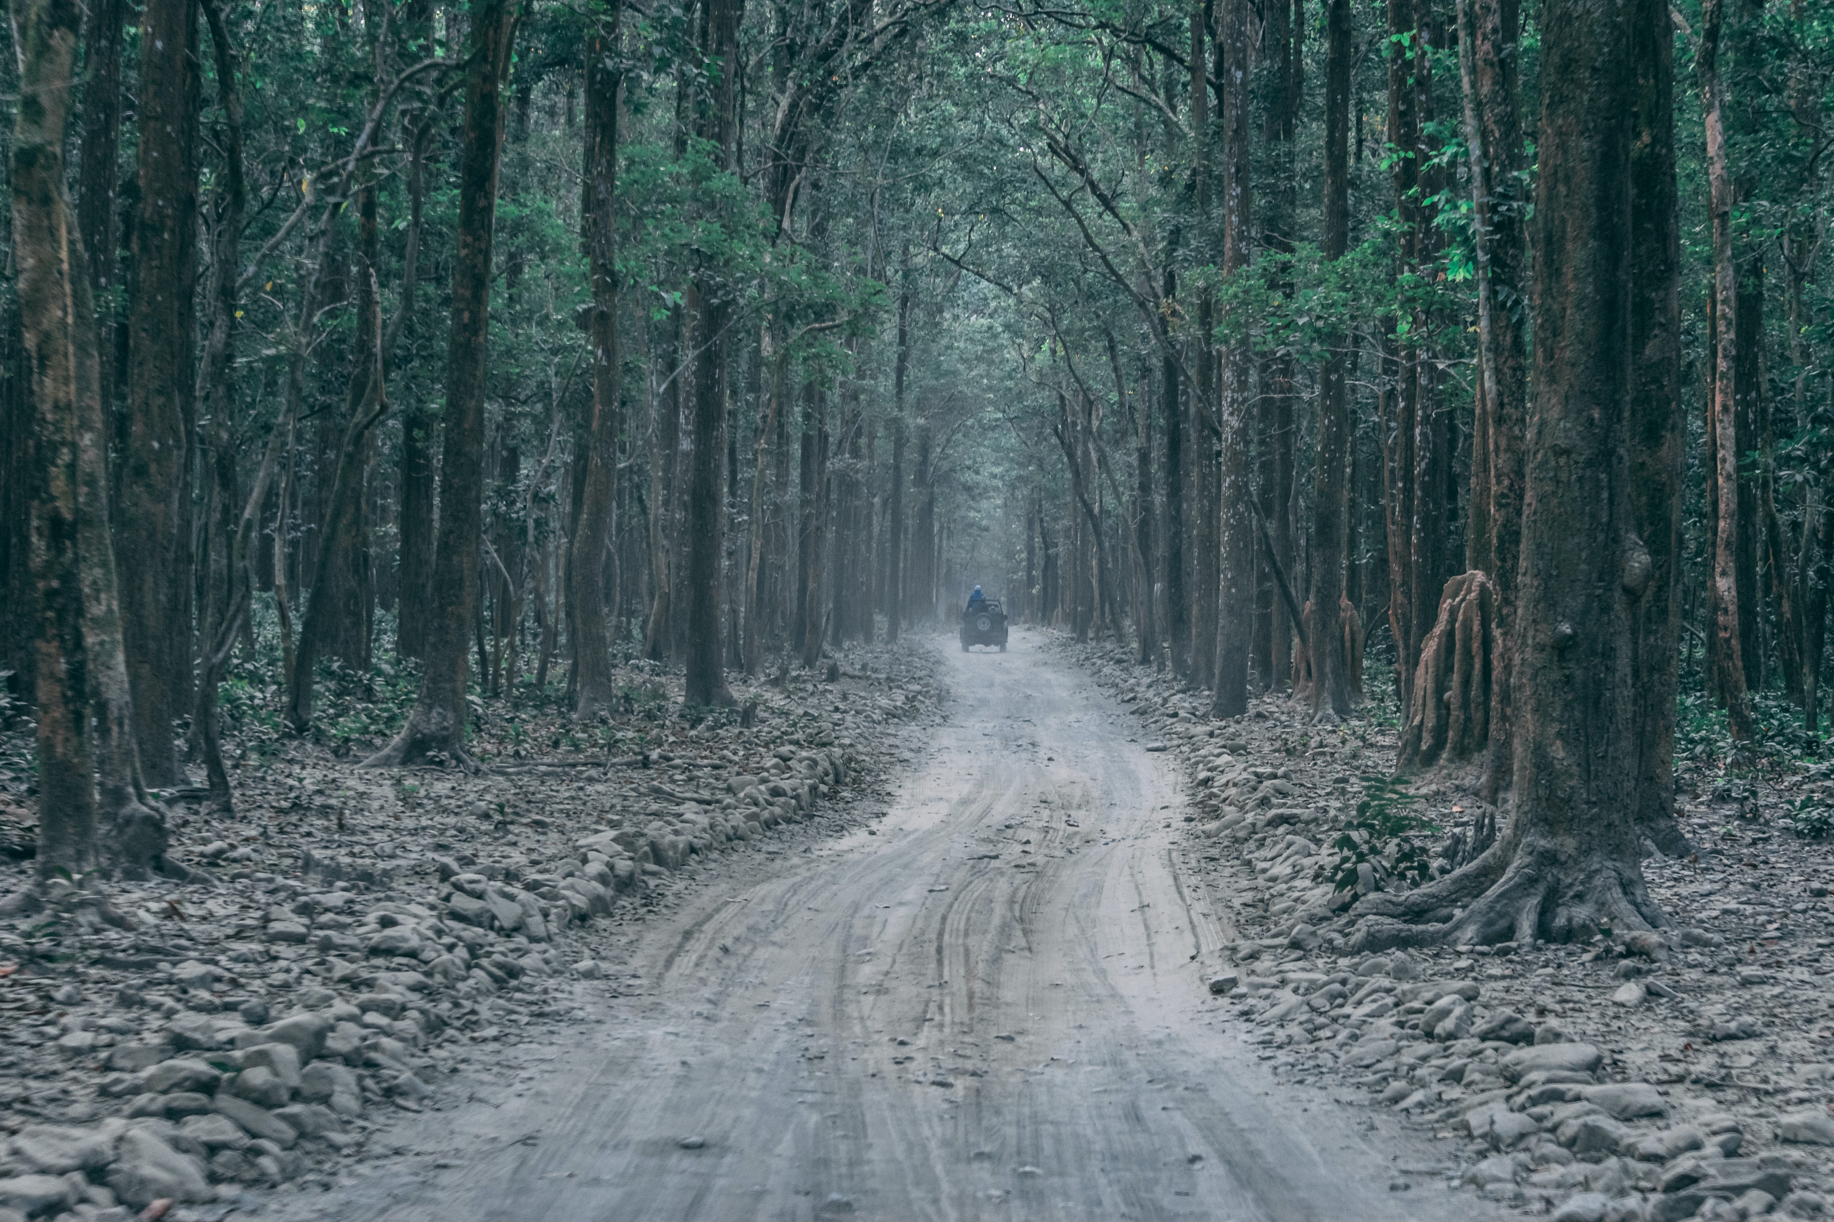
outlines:
[[458, 249], [453, 258], [451, 341], [446, 355], [446, 443], [440, 526], [433, 559], [436, 616], [427, 634], [420, 696], [402, 733], [369, 766], [431, 755], [470, 764], [464, 751], [468, 650], [484, 544], [484, 370], [490, 337], [492, 231], [503, 148], [503, 79], [510, 70], [515, 5], [471, 9], [464, 139], [458, 152]]

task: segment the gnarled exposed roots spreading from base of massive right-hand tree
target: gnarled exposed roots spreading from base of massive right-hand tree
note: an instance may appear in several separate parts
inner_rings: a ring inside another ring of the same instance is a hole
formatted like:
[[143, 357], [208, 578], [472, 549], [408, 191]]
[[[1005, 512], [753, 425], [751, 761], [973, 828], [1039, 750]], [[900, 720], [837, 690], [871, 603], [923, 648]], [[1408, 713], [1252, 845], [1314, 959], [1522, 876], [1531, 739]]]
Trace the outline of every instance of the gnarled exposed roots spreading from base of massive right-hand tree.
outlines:
[[[1495, 845], [1464, 870], [1388, 903], [1364, 900], [1366, 914], [1350, 936], [1352, 953], [1414, 945], [1491, 945], [1497, 942], [1581, 942], [1597, 933], [1632, 933], [1669, 927], [1669, 918], [1649, 898], [1636, 863], [1623, 865], [1603, 854], [1574, 859], [1552, 843], [1526, 843], [1508, 857], [1489, 889], [1447, 920], [1431, 920], [1456, 905], [1471, 878], [1493, 870], [1504, 848]], [[1456, 885], [1454, 885], [1456, 881]]]

